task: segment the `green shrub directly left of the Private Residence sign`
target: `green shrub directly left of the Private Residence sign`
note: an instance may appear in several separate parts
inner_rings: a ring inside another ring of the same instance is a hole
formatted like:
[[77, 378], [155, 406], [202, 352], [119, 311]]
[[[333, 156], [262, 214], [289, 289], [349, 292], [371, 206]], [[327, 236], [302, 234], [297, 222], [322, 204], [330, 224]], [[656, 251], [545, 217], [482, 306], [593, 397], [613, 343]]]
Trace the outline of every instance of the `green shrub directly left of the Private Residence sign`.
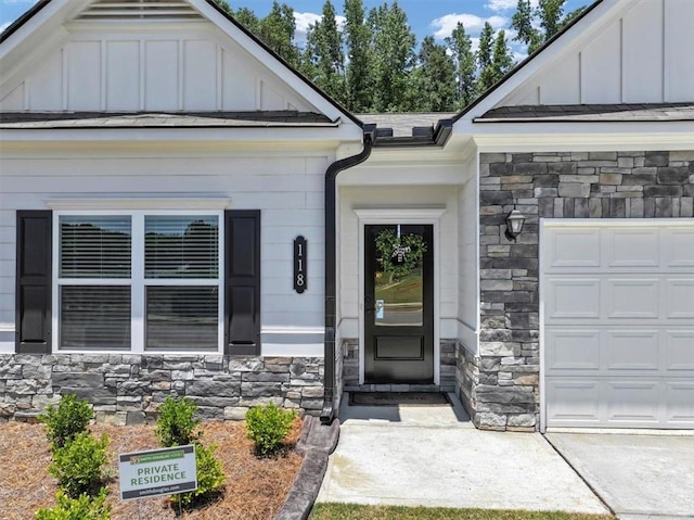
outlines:
[[83, 493], [94, 496], [106, 478], [103, 467], [108, 461], [107, 446], [106, 434], [97, 441], [89, 433], [78, 433], [72, 442], [53, 451], [53, 462], [48, 471], [70, 497]]

